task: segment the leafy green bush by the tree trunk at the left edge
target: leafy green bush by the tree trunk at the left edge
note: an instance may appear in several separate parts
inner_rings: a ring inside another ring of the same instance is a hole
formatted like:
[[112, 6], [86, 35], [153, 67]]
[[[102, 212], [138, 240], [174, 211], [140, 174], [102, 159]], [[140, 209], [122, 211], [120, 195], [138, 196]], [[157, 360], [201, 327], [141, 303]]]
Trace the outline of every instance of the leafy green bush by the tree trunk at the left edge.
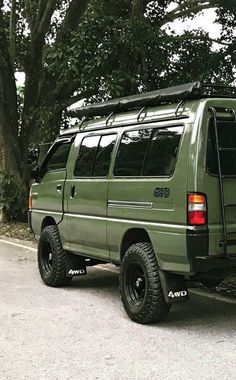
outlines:
[[25, 221], [27, 218], [27, 191], [16, 181], [15, 176], [0, 171], [0, 205], [3, 206], [7, 220]]

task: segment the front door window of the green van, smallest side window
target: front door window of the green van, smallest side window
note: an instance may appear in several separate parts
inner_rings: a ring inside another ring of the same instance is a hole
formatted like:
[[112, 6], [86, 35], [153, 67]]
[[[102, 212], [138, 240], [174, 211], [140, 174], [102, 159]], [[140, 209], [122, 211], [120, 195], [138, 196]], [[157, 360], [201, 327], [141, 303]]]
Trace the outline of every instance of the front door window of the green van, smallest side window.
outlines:
[[43, 165], [43, 172], [65, 169], [70, 147], [71, 142], [56, 144], [55, 147], [52, 148], [50, 155], [46, 158], [45, 164]]

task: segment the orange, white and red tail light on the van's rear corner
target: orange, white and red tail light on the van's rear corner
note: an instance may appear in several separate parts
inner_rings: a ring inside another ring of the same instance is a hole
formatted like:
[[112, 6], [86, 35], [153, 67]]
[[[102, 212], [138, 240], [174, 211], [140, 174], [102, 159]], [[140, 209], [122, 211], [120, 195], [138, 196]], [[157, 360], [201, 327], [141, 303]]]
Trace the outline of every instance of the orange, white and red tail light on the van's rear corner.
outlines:
[[199, 193], [188, 194], [188, 224], [191, 226], [207, 224], [206, 195]]

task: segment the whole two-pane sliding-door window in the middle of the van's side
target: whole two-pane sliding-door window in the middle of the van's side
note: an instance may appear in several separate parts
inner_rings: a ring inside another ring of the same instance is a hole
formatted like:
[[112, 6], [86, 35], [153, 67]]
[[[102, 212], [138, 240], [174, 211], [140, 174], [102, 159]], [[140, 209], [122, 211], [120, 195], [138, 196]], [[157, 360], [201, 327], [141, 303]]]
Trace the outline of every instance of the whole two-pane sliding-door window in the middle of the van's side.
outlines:
[[75, 163], [75, 177], [106, 177], [116, 134], [89, 136], [82, 140]]

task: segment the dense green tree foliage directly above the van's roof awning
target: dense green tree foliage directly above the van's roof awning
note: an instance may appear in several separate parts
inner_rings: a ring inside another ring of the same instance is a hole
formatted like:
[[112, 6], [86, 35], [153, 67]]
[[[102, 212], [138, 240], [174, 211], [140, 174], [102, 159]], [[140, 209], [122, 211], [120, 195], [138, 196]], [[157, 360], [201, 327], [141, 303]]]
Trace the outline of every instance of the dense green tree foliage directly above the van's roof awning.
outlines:
[[[233, 81], [226, 47], [213, 51], [202, 30], [183, 36], [168, 33], [161, 26], [171, 1], [146, 3], [145, 14], [132, 17], [129, 1], [91, 0], [79, 29], [68, 31], [63, 40], [47, 47], [49, 77], [57, 78], [64, 94], [68, 83], [80, 92], [92, 89], [88, 100], [93, 102], [202, 77]], [[192, 6], [192, 2], [189, 6], [188, 2], [177, 3], [184, 9]]]

